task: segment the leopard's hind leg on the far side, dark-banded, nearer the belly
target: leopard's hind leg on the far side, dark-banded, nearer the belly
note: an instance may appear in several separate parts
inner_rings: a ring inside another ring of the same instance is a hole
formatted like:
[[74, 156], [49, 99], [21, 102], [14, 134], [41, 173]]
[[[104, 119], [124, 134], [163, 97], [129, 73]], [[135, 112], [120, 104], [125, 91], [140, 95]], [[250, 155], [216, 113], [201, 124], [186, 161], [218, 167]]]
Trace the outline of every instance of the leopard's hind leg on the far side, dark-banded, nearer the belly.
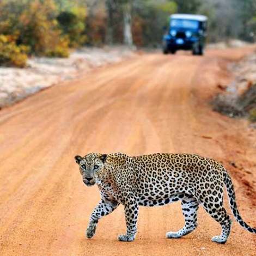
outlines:
[[197, 228], [197, 211], [199, 202], [196, 198], [188, 196], [181, 201], [182, 213], [185, 218], [185, 225], [182, 229], [176, 232], [166, 233], [167, 238], [179, 238], [181, 236], [190, 234]]

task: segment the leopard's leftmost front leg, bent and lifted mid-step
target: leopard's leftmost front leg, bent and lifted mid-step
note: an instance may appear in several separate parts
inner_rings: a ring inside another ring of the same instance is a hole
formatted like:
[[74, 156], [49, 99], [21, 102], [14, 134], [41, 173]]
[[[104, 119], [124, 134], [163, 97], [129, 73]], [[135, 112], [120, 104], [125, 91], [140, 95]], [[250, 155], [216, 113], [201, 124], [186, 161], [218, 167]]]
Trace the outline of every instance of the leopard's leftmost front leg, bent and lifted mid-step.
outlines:
[[86, 230], [87, 238], [92, 238], [95, 234], [97, 222], [103, 216], [111, 214], [112, 211], [117, 209], [119, 203], [116, 201], [108, 201], [101, 199], [100, 203], [95, 207], [92, 215], [90, 216], [89, 224]]

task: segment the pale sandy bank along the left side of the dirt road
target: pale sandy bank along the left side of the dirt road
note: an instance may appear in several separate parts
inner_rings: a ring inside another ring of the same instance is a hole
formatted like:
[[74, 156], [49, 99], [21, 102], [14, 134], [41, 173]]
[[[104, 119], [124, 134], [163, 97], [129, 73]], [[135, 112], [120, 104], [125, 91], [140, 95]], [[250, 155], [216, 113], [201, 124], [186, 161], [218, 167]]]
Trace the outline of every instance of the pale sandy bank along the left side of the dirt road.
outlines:
[[0, 108], [84, 72], [131, 57], [136, 53], [124, 46], [84, 47], [69, 58], [33, 57], [25, 69], [0, 67]]

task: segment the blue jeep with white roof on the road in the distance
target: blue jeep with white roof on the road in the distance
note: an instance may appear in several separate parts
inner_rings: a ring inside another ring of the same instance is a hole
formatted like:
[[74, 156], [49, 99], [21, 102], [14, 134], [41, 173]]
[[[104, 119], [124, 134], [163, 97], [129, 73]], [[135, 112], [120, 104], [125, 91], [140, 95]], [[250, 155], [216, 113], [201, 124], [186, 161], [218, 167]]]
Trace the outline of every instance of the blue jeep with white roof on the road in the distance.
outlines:
[[163, 53], [192, 50], [194, 55], [204, 54], [207, 17], [193, 14], [170, 15], [168, 33], [163, 36]]

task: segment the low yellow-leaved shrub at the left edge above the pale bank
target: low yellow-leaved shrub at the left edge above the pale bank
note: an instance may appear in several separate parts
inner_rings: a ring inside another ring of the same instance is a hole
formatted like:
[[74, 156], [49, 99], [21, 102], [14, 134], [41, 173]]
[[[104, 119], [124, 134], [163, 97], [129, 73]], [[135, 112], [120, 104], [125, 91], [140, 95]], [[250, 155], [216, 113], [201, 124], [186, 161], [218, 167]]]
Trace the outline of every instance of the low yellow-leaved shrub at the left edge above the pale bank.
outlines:
[[0, 65], [24, 68], [27, 62], [29, 47], [17, 46], [11, 36], [0, 34]]

